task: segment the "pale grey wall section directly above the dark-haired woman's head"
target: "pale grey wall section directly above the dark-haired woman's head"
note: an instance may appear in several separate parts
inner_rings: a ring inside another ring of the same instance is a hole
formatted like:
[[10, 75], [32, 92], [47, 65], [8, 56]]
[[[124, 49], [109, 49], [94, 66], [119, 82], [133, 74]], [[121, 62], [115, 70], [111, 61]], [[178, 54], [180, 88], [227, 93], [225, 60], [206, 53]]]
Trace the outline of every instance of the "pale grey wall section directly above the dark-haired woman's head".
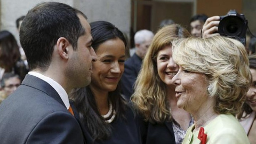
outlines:
[[131, 0], [76, 0], [74, 7], [88, 17], [88, 21], [108, 21], [130, 34]]

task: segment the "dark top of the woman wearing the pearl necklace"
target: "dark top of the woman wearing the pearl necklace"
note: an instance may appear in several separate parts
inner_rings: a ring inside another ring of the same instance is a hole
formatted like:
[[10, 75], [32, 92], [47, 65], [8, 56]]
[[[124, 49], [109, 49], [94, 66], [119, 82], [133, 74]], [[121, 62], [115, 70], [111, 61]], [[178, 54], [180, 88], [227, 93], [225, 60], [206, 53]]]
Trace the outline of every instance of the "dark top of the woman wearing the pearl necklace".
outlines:
[[[110, 123], [112, 126], [112, 135], [110, 136], [109, 139], [107, 140], [95, 140], [94, 143], [109, 143], [109, 144], [137, 144], [141, 143], [141, 138], [140, 138], [140, 131], [139, 131], [139, 125], [138, 125], [138, 119], [135, 118], [135, 114], [131, 110], [131, 108], [127, 108], [125, 111], [125, 117], [126, 119], [123, 118], [118, 118]], [[85, 139], [87, 143], [93, 143], [93, 139], [91, 137], [91, 134], [85, 126]]]

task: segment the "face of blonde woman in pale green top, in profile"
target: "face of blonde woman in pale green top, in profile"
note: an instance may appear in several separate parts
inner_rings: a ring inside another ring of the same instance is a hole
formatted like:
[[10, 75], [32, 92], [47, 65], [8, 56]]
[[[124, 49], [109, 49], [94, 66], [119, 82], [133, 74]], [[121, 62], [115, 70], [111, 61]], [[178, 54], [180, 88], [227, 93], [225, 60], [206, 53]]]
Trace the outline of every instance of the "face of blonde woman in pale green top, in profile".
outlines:
[[180, 69], [173, 77], [176, 85], [175, 97], [178, 99], [177, 106], [195, 114], [209, 98], [207, 92], [207, 81], [204, 74], [192, 73], [180, 66]]

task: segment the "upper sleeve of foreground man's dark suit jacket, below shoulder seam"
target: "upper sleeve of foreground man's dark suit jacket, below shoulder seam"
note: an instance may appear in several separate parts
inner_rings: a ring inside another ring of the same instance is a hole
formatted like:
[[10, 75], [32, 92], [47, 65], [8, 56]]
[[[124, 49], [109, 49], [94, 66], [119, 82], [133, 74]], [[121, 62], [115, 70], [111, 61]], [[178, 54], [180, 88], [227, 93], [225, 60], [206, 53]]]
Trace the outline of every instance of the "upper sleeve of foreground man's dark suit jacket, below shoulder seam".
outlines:
[[[54, 140], [56, 143], [63, 140], [67, 140], [67, 143], [83, 143], [81, 126], [73, 115], [63, 111], [54, 111], [45, 115], [29, 134], [28, 141], [33, 142], [34, 138], [39, 137], [43, 132], [47, 132], [42, 138], [46, 143], [52, 143]], [[47, 138], [52, 140], [45, 140]]]

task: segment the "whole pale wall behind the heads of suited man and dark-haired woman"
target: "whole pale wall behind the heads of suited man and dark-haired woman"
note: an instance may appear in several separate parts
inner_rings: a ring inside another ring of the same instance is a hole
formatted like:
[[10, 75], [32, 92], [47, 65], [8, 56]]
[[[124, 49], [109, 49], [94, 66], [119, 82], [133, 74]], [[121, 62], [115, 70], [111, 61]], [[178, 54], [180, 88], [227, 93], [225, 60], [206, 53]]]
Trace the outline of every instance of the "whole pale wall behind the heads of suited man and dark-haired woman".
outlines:
[[[41, 2], [51, 0], [0, 0], [1, 24], [0, 30], [9, 30], [19, 41], [16, 28], [16, 19]], [[130, 0], [54, 0], [66, 3], [84, 12], [88, 21], [105, 20], [113, 23], [127, 35], [131, 26], [131, 1]]]

